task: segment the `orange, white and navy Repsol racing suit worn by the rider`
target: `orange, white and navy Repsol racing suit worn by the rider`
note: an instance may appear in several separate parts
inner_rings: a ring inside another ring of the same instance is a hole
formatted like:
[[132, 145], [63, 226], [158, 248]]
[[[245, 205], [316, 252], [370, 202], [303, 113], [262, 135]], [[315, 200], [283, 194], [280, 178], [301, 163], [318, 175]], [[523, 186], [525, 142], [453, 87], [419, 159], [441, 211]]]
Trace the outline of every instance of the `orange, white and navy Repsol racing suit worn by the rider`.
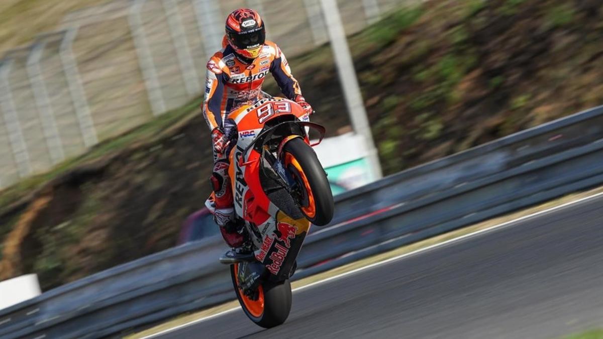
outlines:
[[210, 177], [214, 191], [215, 221], [224, 240], [231, 247], [239, 247], [243, 236], [234, 229], [233, 196], [229, 177], [229, 140], [236, 136], [236, 124], [227, 115], [244, 104], [253, 104], [261, 98], [262, 83], [270, 72], [281, 92], [297, 101], [304, 109], [311, 107], [301, 96], [299, 83], [291, 75], [285, 55], [274, 42], [266, 41], [256, 59], [240, 58], [230, 45], [216, 52], [207, 63], [207, 77], [203, 115], [212, 131], [213, 173]]

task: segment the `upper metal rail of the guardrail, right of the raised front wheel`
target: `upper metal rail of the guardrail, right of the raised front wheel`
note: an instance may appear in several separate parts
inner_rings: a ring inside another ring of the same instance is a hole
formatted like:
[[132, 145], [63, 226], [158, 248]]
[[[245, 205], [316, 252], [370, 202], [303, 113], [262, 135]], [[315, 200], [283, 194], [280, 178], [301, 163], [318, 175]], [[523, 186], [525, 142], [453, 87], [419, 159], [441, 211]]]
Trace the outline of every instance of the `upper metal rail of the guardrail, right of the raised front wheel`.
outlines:
[[331, 224], [588, 144], [601, 138], [602, 126], [603, 106], [595, 107], [393, 174], [337, 195], [336, 215]]

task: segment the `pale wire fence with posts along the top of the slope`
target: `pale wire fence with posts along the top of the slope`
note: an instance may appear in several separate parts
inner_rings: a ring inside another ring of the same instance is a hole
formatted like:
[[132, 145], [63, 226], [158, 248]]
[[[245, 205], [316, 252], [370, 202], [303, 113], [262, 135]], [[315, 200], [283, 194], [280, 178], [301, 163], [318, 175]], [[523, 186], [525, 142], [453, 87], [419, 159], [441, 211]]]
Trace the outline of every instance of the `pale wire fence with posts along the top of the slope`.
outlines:
[[[0, 60], [0, 188], [200, 94], [224, 19], [258, 10], [292, 56], [329, 42], [321, 0], [123, 0], [65, 16]], [[338, 0], [347, 34], [402, 0]]]

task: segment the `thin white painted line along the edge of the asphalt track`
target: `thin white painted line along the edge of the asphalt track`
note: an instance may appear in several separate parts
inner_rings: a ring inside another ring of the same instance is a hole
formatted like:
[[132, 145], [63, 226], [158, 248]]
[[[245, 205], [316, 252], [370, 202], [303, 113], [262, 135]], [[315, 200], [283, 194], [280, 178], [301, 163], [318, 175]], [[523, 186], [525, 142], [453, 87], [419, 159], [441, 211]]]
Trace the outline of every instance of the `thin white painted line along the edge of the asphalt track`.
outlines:
[[[519, 217], [519, 218], [510, 220], [510, 221], [506, 221], [505, 223], [502, 223], [502, 224], [496, 224], [496, 225], [488, 227], [486, 229], [478, 230], [476, 232], [468, 233], [466, 235], [461, 235], [461, 236], [458, 236], [456, 238], [449, 239], [449, 240], [446, 240], [446, 241], [443, 241], [443, 242], [438, 242], [437, 244], [433, 244], [431, 246], [423, 247], [421, 249], [418, 249], [418, 250], [415, 250], [415, 251], [412, 251], [412, 252], [409, 252], [409, 253], [404, 253], [404, 254], [399, 255], [399, 256], [394, 256], [393, 258], [385, 259], [384, 261], [374, 262], [373, 264], [362, 266], [362, 267], [356, 268], [355, 270], [351, 270], [351, 271], [347, 271], [347, 272], [344, 272], [344, 273], [341, 273], [341, 274], [337, 274], [336, 276], [327, 277], [327, 278], [325, 278], [323, 280], [318, 280], [318, 281], [312, 282], [312, 283], [310, 283], [308, 285], [304, 285], [304, 286], [300, 286], [298, 288], [294, 288], [292, 291], [295, 292], [295, 291], [305, 290], [306, 288], [315, 287], [315, 286], [324, 284], [326, 282], [330, 282], [332, 280], [341, 279], [343, 277], [346, 277], [346, 276], [358, 273], [360, 271], [368, 270], [370, 268], [377, 267], [377, 266], [380, 266], [380, 265], [385, 265], [385, 264], [388, 264], [388, 263], [393, 262], [393, 261], [404, 259], [404, 258], [406, 258], [408, 256], [417, 255], [418, 253], [426, 252], [428, 250], [435, 249], [437, 247], [446, 246], [446, 245], [452, 244], [454, 242], [458, 242], [458, 241], [462, 241], [462, 240], [465, 240], [465, 239], [468, 239], [468, 238], [472, 238], [474, 236], [481, 235], [483, 233], [490, 232], [490, 231], [495, 230], [495, 229], [499, 229], [499, 228], [502, 228], [502, 227], [510, 226], [510, 225], [512, 225], [514, 223], [517, 223], [519, 221], [523, 221], [523, 220], [526, 220], [526, 219], [529, 219], [529, 218], [538, 217], [539, 215], [548, 214], [548, 213], [557, 211], [558, 209], [563, 209], [563, 208], [566, 208], [568, 206], [572, 206], [574, 204], [578, 204], [578, 203], [582, 203], [584, 201], [592, 200], [594, 198], [601, 197], [602, 195], [603, 195], [603, 192], [597, 193], [597, 194], [593, 194], [593, 195], [589, 195], [588, 197], [580, 198], [578, 200], [573, 200], [573, 201], [570, 201], [569, 203], [560, 204], [559, 206], [554, 206], [552, 208], [548, 208], [548, 209], [545, 209], [545, 210], [540, 211], [540, 212], [534, 212], [534, 213], [529, 214], [529, 215], [524, 215], [523, 217]], [[197, 323], [201, 323], [201, 322], [204, 322], [206, 320], [210, 320], [210, 319], [219, 317], [220, 315], [224, 315], [224, 314], [228, 314], [228, 313], [234, 312], [234, 311], [236, 311], [238, 309], [241, 309], [241, 306], [237, 306], [235, 308], [227, 309], [226, 311], [222, 311], [222, 312], [219, 312], [219, 313], [216, 313], [216, 314], [213, 314], [213, 315], [209, 315], [209, 316], [204, 317], [204, 318], [193, 320], [192, 322], [188, 322], [188, 323], [185, 323], [185, 324], [182, 324], [182, 325], [174, 326], [173, 328], [165, 329], [163, 331], [157, 332], [156, 334], [147, 335], [146, 337], [142, 337], [141, 339], [155, 338], [155, 337], [157, 337], [159, 335], [166, 334], [166, 333], [169, 333], [169, 332], [173, 332], [173, 331], [176, 331], [178, 329], [185, 328], [185, 327], [197, 324]]]

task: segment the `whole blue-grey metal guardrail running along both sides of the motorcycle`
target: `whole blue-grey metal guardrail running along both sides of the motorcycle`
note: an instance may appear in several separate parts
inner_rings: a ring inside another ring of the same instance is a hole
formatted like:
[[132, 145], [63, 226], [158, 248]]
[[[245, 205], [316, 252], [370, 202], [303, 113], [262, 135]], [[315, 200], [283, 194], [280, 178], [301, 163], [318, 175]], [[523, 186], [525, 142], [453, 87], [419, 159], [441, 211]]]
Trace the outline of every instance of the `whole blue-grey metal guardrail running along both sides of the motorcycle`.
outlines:
[[[347, 192], [338, 221], [383, 212], [315, 228], [294, 278], [599, 185], [602, 137], [603, 106]], [[104, 337], [234, 299], [224, 249], [206, 239], [48, 291], [1, 310], [0, 337]]]

